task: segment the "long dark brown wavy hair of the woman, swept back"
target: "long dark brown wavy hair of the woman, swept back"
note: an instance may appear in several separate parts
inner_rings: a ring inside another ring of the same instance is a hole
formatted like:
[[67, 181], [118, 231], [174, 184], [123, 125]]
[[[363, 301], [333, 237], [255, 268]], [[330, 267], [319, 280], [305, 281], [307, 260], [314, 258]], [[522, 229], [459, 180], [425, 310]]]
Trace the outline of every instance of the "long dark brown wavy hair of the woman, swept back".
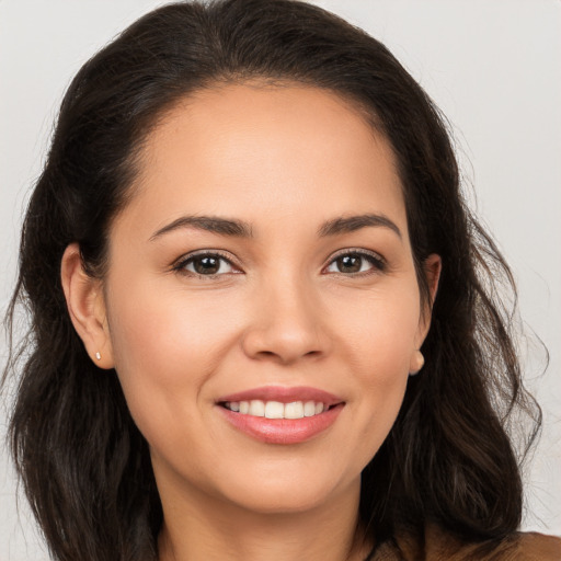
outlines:
[[[494, 289], [511, 272], [467, 208], [445, 121], [388, 49], [293, 0], [179, 2], [142, 16], [78, 72], [60, 107], [21, 238], [27, 336], [4, 371], [16, 400], [10, 443], [55, 559], [157, 558], [162, 508], [148, 445], [115, 373], [100, 376], [67, 312], [60, 262], [78, 242], [103, 277], [107, 231], [127, 204], [147, 135], [174, 104], [216, 84], [300, 83], [350, 100], [397, 156], [425, 304], [424, 261], [443, 273], [423, 345], [386, 442], [363, 472], [360, 519], [375, 543], [436, 524], [459, 539], [501, 539], [519, 525], [519, 462], [540, 424], [522, 386], [513, 316]], [[533, 421], [522, 454], [508, 426]]]

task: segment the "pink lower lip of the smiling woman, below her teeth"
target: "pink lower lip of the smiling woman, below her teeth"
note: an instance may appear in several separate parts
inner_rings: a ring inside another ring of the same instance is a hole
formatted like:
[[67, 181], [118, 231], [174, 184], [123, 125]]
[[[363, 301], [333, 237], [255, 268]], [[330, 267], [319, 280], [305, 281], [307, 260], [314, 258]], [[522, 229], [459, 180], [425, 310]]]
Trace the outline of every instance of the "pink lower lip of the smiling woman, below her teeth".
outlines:
[[343, 410], [344, 403], [319, 415], [302, 419], [267, 419], [236, 413], [217, 405], [225, 417], [239, 431], [266, 444], [299, 444], [327, 431]]

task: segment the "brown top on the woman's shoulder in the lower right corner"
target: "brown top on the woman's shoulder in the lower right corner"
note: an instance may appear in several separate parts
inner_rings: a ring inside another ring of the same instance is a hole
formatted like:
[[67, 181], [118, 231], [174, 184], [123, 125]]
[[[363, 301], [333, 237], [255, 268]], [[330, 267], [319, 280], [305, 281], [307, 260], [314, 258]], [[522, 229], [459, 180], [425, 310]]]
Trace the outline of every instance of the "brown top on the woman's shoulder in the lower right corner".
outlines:
[[561, 561], [561, 538], [516, 533], [501, 541], [466, 545], [428, 527], [422, 539], [399, 539], [398, 549], [381, 546], [371, 561]]

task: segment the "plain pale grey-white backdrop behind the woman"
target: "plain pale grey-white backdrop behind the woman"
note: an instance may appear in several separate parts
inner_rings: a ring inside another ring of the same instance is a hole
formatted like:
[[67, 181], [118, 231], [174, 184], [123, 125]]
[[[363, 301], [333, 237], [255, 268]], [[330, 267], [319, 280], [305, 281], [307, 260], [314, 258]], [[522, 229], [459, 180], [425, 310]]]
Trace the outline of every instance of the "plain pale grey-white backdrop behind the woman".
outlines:
[[[0, 0], [0, 306], [64, 90], [154, 0]], [[545, 428], [526, 469], [523, 527], [561, 535], [561, 2], [324, 0], [381, 39], [450, 121], [466, 188], [514, 268], [526, 380]], [[550, 353], [543, 373], [541, 340]], [[2, 362], [5, 342], [0, 341]], [[0, 437], [5, 432], [0, 408]], [[48, 477], [48, 474], [46, 474]], [[46, 560], [0, 453], [0, 561]]]

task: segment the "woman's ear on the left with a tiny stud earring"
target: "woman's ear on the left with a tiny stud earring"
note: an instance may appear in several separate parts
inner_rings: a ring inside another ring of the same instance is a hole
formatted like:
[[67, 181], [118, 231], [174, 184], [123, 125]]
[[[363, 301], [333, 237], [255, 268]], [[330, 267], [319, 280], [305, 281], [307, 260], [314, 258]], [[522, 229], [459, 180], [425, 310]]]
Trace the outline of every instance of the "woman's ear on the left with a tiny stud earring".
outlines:
[[90, 358], [100, 368], [113, 368], [102, 283], [85, 273], [78, 243], [71, 243], [65, 250], [60, 279], [68, 313]]

